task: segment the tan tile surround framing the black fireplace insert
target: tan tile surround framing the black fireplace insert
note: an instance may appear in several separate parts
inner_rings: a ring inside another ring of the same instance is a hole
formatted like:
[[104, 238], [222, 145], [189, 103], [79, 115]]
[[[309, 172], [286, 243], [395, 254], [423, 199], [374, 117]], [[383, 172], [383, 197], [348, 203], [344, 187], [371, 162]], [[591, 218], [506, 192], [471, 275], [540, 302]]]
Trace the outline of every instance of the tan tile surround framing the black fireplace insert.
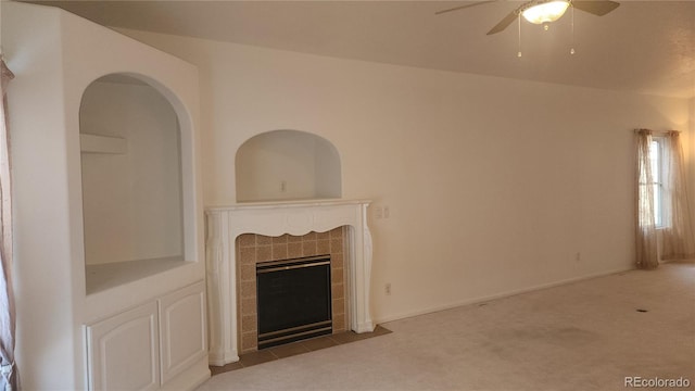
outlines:
[[268, 237], [243, 234], [237, 237], [240, 353], [257, 350], [256, 264], [302, 256], [330, 255], [330, 290], [333, 333], [346, 330], [345, 285], [343, 283], [343, 227], [304, 236]]

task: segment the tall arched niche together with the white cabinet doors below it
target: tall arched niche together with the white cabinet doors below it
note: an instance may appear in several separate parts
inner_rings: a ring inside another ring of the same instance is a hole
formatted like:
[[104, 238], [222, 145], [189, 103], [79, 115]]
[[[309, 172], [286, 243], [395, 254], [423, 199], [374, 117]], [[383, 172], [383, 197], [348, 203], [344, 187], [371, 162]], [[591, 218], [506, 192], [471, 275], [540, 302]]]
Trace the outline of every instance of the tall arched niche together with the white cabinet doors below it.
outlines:
[[210, 377], [191, 129], [155, 85], [102, 76], [79, 109], [90, 390], [185, 390]]

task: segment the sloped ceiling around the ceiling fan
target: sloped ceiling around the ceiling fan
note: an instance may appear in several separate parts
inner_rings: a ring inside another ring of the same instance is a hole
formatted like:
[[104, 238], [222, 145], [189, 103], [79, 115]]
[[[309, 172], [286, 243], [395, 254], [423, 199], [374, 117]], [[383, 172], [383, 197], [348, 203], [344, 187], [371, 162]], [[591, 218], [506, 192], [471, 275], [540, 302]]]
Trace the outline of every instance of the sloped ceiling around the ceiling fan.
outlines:
[[48, 1], [99, 24], [338, 58], [681, 98], [695, 97], [695, 1], [571, 10], [548, 31], [485, 33], [521, 2]]

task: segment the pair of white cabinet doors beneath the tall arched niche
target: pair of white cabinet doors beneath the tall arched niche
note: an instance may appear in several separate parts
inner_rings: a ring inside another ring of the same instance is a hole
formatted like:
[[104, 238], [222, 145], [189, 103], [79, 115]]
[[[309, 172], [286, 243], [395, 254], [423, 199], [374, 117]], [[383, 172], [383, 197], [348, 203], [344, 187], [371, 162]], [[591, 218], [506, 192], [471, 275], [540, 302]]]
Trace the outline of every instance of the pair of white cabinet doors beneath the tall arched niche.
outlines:
[[204, 283], [87, 325], [90, 390], [159, 390], [207, 354]]

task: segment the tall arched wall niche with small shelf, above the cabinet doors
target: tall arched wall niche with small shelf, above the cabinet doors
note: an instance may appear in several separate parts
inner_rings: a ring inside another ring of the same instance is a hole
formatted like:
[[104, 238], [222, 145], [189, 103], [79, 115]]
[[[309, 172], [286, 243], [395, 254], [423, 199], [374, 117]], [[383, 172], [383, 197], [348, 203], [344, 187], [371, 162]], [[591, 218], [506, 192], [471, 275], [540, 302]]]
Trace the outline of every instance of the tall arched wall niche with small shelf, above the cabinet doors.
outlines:
[[[79, 109], [87, 267], [194, 257], [192, 125], [156, 80], [109, 74], [84, 91]], [[87, 291], [94, 288], [87, 274]], [[96, 288], [94, 288], [96, 289]]]

